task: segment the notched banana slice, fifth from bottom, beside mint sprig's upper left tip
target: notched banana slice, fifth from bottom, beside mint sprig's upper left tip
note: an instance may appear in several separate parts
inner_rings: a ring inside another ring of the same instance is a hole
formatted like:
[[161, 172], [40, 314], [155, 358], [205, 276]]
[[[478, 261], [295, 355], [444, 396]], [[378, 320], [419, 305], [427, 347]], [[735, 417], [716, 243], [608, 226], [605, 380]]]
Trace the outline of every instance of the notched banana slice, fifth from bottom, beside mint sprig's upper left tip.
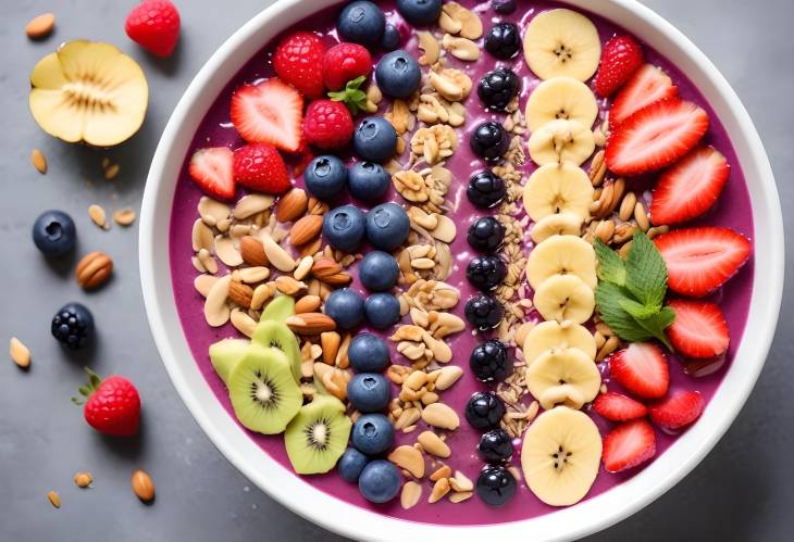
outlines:
[[595, 289], [595, 250], [579, 236], [551, 236], [536, 245], [526, 260], [526, 280], [533, 289], [553, 275], [575, 275]]

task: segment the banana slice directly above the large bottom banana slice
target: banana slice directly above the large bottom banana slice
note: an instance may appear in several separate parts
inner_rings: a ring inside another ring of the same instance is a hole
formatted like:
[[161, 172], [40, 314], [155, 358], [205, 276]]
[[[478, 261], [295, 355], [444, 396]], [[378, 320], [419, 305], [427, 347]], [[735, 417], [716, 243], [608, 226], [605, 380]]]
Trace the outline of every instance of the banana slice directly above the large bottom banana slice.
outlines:
[[526, 369], [526, 387], [546, 409], [563, 404], [581, 408], [593, 401], [601, 374], [592, 357], [579, 349], [549, 350]]

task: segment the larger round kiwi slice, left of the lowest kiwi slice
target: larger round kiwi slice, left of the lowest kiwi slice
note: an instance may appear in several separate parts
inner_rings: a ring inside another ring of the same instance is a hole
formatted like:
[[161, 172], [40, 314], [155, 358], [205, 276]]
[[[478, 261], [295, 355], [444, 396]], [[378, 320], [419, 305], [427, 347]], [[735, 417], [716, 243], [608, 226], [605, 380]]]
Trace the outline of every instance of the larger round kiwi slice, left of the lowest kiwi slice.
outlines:
[[261, 344], [251, 344], [226, 386], [240, 424], [264, 434], [284, 431], [303, 403], [286, 354]]

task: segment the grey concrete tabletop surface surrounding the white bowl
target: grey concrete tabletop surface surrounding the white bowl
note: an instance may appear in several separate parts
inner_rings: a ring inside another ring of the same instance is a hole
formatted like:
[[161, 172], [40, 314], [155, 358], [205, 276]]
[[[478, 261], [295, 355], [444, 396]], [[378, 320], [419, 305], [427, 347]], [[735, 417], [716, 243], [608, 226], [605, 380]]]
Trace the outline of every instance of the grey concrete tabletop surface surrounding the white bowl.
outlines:
[[[157, 61], [126, 39], [132, 0], [3, 1], [0, 18], [0, 339], [18, 336], [30, 346], [29, 373], [0, 363], [0, 539], [8, 541], [337, 540], [251, 486], [200, 431], [165, 375], [151, 340], [140, 295], [137, 231], [104, 232], [86, 209], [139, 209], [150, 157], [170, 112], [212, 51], [268, 0], [182, 0], [183, 34], [172, 59]], [[595, 2], [597, 3], [597, 2]], [[791, 0], [647, 0], [699, 46], [734, 86], [767, 146], [782, 206], [794, 206], [794, 41]], [[58, 15], [54, 36], [32, 43], [24, 25], [34, 15]], [[119, 45], [149, 78], [151, 97], [142, 130], [112, 151], [69, 147], [42, 134], [26, 105], [27, 76], [61, 40], [87, 37]], [[46, 176], [29, 165], [41, 148]], [[103, 156], [121, 164], [113, 181], [101, 180]], [[59, 207], [79, 231], [78, 253], [102, 250], [115, 261], [113, 281], [85, 294], [72, 280], [74, 262], [48, 265], [30, 242], [39, 212]], [[786, 229], [794, 226], [785, 216]], [[762, 250], [762, 247], [758, 248]], [[789, 266], [790, 273], [794, 265]], [[786, 297], [792, 282], [787, 281]], [[88, 304], [100, 329], [96, 346], [64, 354], [49, 336], [63, 303]], [[673, 490], [618, 526], [592, 537], [615, 540], [791, 539], [794, 531], [794, 311], [783, 304], [781, 324], [758, 386], [736, 423], [699, 467]], [[5, 348], [4, 345], [2, 346]], [[5, 354], [2, 354], [5, 356]], [[138, 386], [142, 430], [136, 440], [106, 440], [90, 430], [69, 398], [83, 365], [119, 371]], [[148, 470], [157, 501], [141, 505], [129, 491], [129, 472]], [[72, 476], [94, 474], [95, 489], [78, 490]], [[60, 492], [61, 509], [47, 502]], [[528, 533], [531, 538], [531, 533]]]

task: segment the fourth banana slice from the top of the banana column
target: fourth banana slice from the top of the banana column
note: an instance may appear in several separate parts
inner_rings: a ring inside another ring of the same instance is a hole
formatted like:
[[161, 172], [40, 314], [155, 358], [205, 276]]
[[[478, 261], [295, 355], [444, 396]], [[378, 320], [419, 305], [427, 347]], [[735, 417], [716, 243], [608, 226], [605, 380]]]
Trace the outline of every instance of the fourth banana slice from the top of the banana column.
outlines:
[[590, 177], [584, 169], [568, 162], [538, 167], [524, 187], [524, 209], [535, 222], [558, 213], [572, 213], [584, 222], [590, 217], [591, 203]]

